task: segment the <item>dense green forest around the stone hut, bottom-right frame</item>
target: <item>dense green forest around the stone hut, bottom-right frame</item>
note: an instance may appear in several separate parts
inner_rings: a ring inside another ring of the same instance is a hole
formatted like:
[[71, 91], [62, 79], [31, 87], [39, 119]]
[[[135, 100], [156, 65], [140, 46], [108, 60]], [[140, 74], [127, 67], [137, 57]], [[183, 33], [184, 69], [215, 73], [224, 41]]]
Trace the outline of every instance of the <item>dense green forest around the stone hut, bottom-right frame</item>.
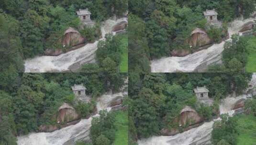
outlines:
[[[136, 145], [137, 138], [160, 135], [162, 128], [181, 129], [173, 121], [185, 106], [211, 120], [219, 114], [220, 99], [242, 93], [249, 80], [250, 73], [130, 73], [129, 142]], [[209, 89], [211, 106], [197, 101], [197, 86]]]

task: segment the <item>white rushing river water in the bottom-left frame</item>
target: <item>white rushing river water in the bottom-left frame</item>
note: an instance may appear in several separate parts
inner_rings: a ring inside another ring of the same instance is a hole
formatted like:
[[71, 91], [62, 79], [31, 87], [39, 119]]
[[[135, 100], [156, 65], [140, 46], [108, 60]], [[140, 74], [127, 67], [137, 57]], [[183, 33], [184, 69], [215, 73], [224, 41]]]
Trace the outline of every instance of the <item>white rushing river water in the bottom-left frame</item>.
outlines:
[[[124, 92], [125, 93], [125, 92]], [[105, 93], [98, 98], [97, 111], [107, 109], [111, 110], [111, 102], [122, 97], [124, 93]], [[97, 116], [99, 114], [96, 114]], [[70, 125], [52, 133], [31, 133], [29, 135], [19, 136], [18, 145], [74, 145], [78, 140], [89, 140], [89, 128], [92, 117], [82, 119], [78, 124]]]

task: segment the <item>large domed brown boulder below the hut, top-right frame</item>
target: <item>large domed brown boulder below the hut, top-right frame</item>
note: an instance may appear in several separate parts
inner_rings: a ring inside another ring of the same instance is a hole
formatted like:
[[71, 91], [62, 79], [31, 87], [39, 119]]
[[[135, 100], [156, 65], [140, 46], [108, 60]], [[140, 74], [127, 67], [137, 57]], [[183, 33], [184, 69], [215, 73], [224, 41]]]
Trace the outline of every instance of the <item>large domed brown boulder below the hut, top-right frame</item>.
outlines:
[[211, 43], [213, 43], [213, 40], [211, 40], [208, 34], [202, 29], [196, 28], [194, 31], [191, 32], [191, 36], [189, 38], [189, 45], [193, 48], [202, 47]]

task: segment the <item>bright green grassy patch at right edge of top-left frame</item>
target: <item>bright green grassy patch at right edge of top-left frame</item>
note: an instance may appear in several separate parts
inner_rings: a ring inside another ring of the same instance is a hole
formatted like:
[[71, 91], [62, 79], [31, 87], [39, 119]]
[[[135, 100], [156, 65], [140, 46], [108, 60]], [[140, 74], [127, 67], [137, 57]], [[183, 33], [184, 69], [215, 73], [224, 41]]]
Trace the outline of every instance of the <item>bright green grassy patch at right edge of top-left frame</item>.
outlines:
[[121, 63], [119, 65], [120, 73], [128, 73], [128, 36], [127, 34], [121, 34], [122, 45], [121, 45]]

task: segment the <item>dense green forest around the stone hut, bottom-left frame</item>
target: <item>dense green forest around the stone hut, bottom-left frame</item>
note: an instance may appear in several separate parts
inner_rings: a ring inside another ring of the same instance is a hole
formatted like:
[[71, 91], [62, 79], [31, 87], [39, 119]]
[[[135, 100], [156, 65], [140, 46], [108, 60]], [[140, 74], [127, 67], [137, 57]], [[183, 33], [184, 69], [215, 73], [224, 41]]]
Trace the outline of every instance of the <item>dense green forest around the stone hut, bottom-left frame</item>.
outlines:
[[[0, 145], [16, 145], [16, 135], [36, 132], [41, 124], [56, 124], [52, 116], [64, 102], [87, 117], [94, 112], [97, 97], [119, 91], [126, 77], [122, 73], [0, 73]], [[71, 86], [81, 83], [92, 96], [90, 103], [75, 101]]]

